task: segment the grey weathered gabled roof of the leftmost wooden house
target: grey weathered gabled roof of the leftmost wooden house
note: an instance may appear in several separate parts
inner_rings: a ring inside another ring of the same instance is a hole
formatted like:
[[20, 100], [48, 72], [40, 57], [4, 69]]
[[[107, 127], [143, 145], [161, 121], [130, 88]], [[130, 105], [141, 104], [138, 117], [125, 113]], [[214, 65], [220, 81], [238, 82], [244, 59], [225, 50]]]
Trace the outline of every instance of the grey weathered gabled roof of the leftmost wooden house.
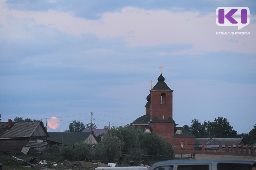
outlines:
[[30, 137], [39, 126], [43, 128], [45, 134], [49, 137], [41, 120], [12, 122], [11, 128], [8, 128], [8, 122], [0, 122], [0, 138]]

